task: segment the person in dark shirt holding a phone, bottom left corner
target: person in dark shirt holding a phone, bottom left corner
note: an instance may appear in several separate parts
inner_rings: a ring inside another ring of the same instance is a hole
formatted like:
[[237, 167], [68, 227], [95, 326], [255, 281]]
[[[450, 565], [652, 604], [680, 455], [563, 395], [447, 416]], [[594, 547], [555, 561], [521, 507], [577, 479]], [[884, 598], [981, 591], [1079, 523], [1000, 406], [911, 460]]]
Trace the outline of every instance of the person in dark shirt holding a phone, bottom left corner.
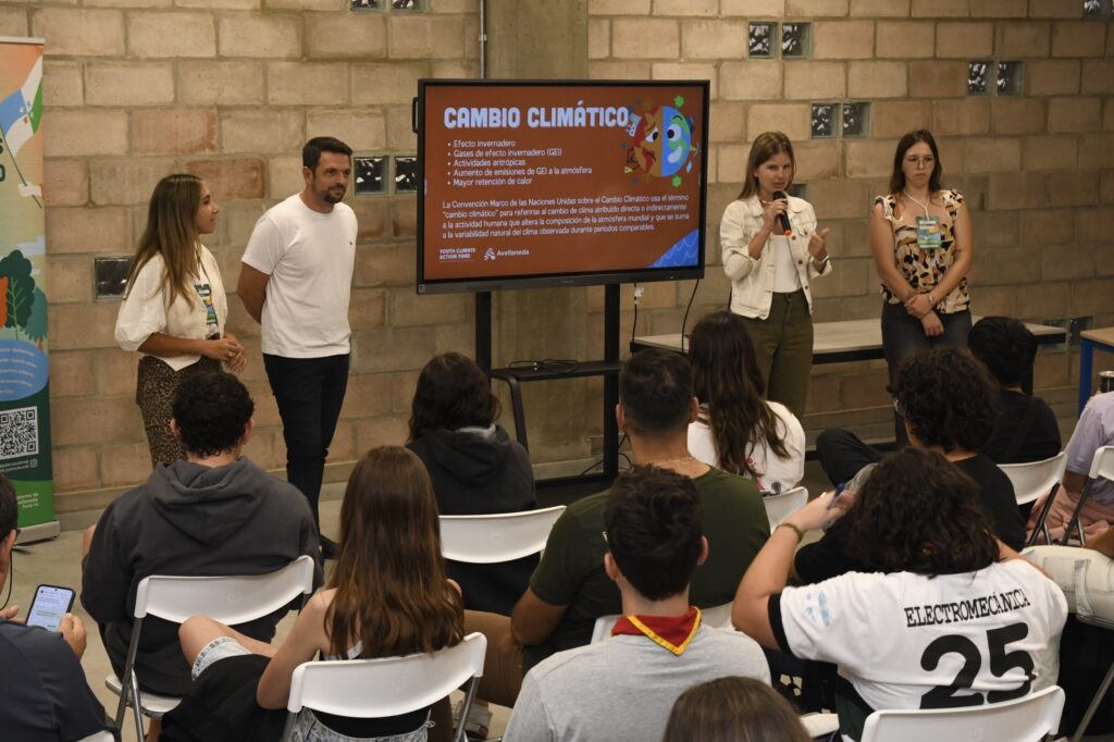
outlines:
[[[16, 490], [0, 475], [0, 592], [11, 574], [18, 519]], [[25, 626], [16, 619], [18, 612], [19, 606], [0, 609], [0, 738], [69, 742], [114, 731], [81, 670], [81, 619], [67, 613], [58, 631], [51, 632]]]

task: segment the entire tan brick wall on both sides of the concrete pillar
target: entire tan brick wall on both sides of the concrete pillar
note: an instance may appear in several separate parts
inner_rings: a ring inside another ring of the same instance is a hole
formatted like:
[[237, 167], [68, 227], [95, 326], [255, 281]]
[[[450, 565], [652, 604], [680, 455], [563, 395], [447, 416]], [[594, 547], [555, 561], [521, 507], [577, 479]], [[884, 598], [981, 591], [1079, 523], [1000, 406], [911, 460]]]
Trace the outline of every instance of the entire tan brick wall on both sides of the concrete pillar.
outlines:
[[[149, 467], [133, 403], [136, 359], [113, 342], [117, 303], [92, 300], [92, 257], [130, 253], [155, 182], [190, 170], [224, 208], [209, 246], [234, 286], [255, 219], [301, 187], [297, 150], [306, 137], [334, 134], [358, 154], [413, 154], [414, 81], [478, 70], [477, 0], [427, 6], [402, 13], [352, 12], [346, 0], [0, 0], [0, 35], [48, 40], [43, 130], [60, 509], [102, 502]], [[747, 143], [771, 128], [797, 143], [799, 180], [832, 227], [837, 272], [815, 283], [818, 319], [877, 316], [867, 214], [896, 138], [919, 126], [939, 135], [946, 182], [967, 193], [973, 209], [976, 311], [1094, 315], [1100, 325], [1114, 324], [1114, 23], [1084, 20], [1082, 0], [592, 0], [586, 10], [568, 3], [568, 13], [569, 27], [587, 29], [594, 78], [712, 80], [709, 274], [690, 325], [726, 300], [719, 218], [737, 193]], [[749, 57], [752, 21], [811, 23], [811, 55]], [[577, 32], [561, 28], [555, 32]], [[1023, 94], [969, 97], [974, 59], [1024, 61]], [[844, 100], [872, 105], [869, 136], [810, 140], [811, 104]], [[434, 352], [469, 352], [472, 331], [468, 296], [413, 294], [413, 197], [349, 202], [361, 225], [354, 378], [334, 461], [401, 440], [417, 369]], [[646, 286], [639, 333], [676, 332], [692, 286]], [[631, 301], [624, 287], [624, 336]], [[595, 357], [602, 290], [587, 290], [586, 303]], [[252, 353], [245, 380], [258, 408], [248, 452], [281, 467], [257, 328], [238, 300], [231, 305], [231, 328]], [[515, 351], [500, 348], [497, 360]], [[1042, 355], [1038, 385], [1066, 394], [1071, 362]], [[877, 362], [817, 369], [810, 421], [862, 408], [883, 419], [883, 378]], [[567, 414], [564, 393], [555, 388], [541, 399], [549, 414]], [[589, 394], [585, 402], [589, 431], [598, 430], [598, 401]], [[587, 451], [586, 441], [553, 451], [569, 456], [578, 447]], [[547, 450], [536, 448], [535, 458], [545, 460]]]

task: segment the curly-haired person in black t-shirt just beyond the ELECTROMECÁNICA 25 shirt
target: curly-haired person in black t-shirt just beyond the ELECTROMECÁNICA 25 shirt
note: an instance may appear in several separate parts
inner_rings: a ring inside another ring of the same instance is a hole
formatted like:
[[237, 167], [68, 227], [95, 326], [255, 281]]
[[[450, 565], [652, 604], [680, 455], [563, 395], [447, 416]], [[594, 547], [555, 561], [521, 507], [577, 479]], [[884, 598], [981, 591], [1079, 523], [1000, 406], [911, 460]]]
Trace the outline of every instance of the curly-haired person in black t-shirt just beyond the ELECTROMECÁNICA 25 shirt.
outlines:
[[[954, 348], [918, 351], [898, 367], [890, 392], [905, 418], [909, 442], [927, 448], [975, 480], [979, 505], [986, 510], [994, 534], [1006, 546], [1025, 544], [1025, 525], [1017, 511], [1014, 486], [994, 461], [978, 449], [994, 429], [994, 387], [986, 370], [969, 353]], [[833, 482], [848, 482], [854, 491], [882, 452], [867, 446], [847, 430], [825, 430], [817, 438], [824, 471]], [[872, 476], [872, 475], [871, 475]], [[846, 572], [861, 570], [848, 544], [847, 523], [837, 521], [823, 538], [797, 553], [794, 570], [805, 583], [815, 583]]]

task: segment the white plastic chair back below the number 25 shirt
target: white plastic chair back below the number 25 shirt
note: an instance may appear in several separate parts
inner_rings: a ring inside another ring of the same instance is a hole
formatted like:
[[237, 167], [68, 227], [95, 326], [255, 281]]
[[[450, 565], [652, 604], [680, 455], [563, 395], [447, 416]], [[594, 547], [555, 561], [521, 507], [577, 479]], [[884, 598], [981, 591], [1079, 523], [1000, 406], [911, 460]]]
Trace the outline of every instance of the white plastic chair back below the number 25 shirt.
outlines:
[[1057, 685], [981, 706], [876, 711], [867, 716], [860, 742], [1039, 742], [1056, 733], [1063, 711], [1064, 690]]

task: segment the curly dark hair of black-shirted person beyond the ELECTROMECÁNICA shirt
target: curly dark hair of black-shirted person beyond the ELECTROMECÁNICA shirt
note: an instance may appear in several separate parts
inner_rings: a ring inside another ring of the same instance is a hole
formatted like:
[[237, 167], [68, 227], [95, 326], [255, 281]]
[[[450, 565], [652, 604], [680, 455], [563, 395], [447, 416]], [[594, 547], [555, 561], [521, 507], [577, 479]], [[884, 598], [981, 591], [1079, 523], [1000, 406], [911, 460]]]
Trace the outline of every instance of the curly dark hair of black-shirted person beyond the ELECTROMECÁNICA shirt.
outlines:
[[930, 348], [898, 365], [888, 387], [897, 411], [926, 447], [977, 451], [998, 420], [997, 391], [981, 363], [967, 351]]

